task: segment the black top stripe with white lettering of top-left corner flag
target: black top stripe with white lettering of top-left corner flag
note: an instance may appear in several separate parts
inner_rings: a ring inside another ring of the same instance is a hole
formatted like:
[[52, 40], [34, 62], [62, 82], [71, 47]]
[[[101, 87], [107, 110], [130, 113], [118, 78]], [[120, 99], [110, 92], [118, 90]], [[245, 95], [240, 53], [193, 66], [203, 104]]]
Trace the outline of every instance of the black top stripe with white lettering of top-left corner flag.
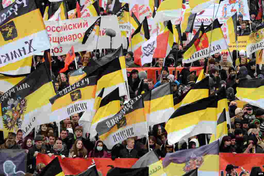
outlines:
[[18, 16], [29, 13], [36, 10], [35, 1], [32, 0], [16, 0], [8, 7], [0, 11], [0, 26], [5, 24], [7, 21], [16, 18]]

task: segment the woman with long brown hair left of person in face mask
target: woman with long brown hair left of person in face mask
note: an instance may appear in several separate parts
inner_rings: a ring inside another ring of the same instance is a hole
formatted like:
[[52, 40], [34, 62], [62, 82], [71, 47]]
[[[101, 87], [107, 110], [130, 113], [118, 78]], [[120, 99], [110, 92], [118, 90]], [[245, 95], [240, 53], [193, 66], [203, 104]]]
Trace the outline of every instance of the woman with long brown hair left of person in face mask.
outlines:
[[77, 139], [69, 152], [69, 158], [87, 158], [87, 149], [83, 146], [82, 140]]

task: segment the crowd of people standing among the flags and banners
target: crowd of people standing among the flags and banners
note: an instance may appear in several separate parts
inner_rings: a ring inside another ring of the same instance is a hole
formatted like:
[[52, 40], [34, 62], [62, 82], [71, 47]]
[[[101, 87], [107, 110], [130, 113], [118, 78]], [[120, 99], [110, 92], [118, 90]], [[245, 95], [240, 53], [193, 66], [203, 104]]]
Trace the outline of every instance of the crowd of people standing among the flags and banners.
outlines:
[[[41, 1], [40, 1], [41, 2]], [[37, 2], [43, 11], [43, 4]], [[44, 1], [43, 1], [44, 2]], [[45, 2], [46, 3], [46, 2]], [[69, 10], [76, 8], [76, 1], [68, 1]], [[107, 10], [101, 7], [101, 15], [113, 15], [109, 10], [112, 1], [108, 0]], [[240, 26], [238, 36], [249, 35], [261, 20], [256, 20], [256, 7], [250, 6], [249, 21], [243, 20], [243, 15], [238, 15], [237, 25]], [[43, 14], [43, 13], [42, 13]], [[128, 85], [130, 98], [140, 95], [143, 91], [150, 91], [156, 87], [171, 82], [173, 98], [177, 98], [186, 93], [196, 83], [197, 75], [191, 74], [191, 67], [204, 67], [208, 65], [210, 94], [220, 87], [226, 87], [227, 98], [229, 100], [229, 116], [231, 126], [228, 126], [228, 136], [224, 136], [219, 152], [232, 153], [264, 153], [264, 110], [250, 104], [241, 106], [240, 100], [236, 98], [236, 87], [240, 80], [258, 78], [260, 81], [264, 79], [264, 67], [256, 65], [256, 57], [254, 54], [247, 56], [245, 50], [232, 51], [233, 62], [228, 61], [227, 54], [216, 53], [209, 57], [202, 58], [192, 63], [182, 63], [183, 53], [186, 43], [183, 46], [174, 43], [171, 52], [166, 58], [153, 58], [152, 63], [144, 64], [143, 67], [160, 67], [161, 75], [157, 76], [157, 80], [148, 78], [144, 71], [133, 69], [129, 72]], [[113, 50], [105, 49], [105, 54], [111, 53]], [[76, 53], [77, 65], [79, 67], [89, 66], [89, 62], [93, 56], [98, 56], [98, 51], [83, 51]], [[127, 68], [140, 67], [134, 63], [134, 53], [124, 49], [125, 62]], [[237, 55], [238, 53], [238, 55]], [[63, 90], [69, 86], [69, 76], [75, 70], [75, 61], [69, 66], [69, 70], [64, 73], [59, 71], [64, 67], [66, 55], [52, 57], [51, 62], [53, 82], [55, 92]], [[34, 56], [32, 62], [32, 71], [43, 64], [42, 56]], [[180, 77], [175, 79], [174, 75], [169, 73], [168, 67], [182, 68]], [[144, 72], [144, 73], [143, 73]], [[120, 106], [128, 103], [127, 97], [120, 97]], [[126, 101], [124, 101], [126, 100]], [[116, 144], [112, 149], [107, 149], [104, 142], [98, 136], [90, 139], [89, 133], [83, 134], [83, 127], [79, 126], [78, 121], [82, 113], [73, 114], [57, 124], [55, 122], [42, 124], [35, 127], [28, 136], [22, 137], [22, 130], [17, 133], [9, 132], [8, 137], [0, 146], [0, 149], [25, 149], [27, 153], [27, 172], [31, 174], [40, 173], [45, 165], [43, 163], [36, 164], [36, 157], [39, 153], [60, 155], [62, 158], [140, 158], [149, 150], [155, 150], [159, 157], [165, 157], [167, 153], [178, 150], [194, 149], [209, 143], [212, 134], [200, 134], [193, 136], [188, 141], [180, 141], [174, 145], [167, 142], [167, 132], [165, 130], [166, 123], [156, 124], [151, 127], [148, 139], [146, 137], [128, 138], [122, 143]], [[190, 120], [190, 119], [188, 119]], [[60, 128], [58, 128], [58, 125]], [[58, 130], [60, 129], [60, 131]], [[85, 136], [85, 137], [83, 137]], [[148, 143], [149, 142], [149, 143]], [[230, 169], [231, 168], [231, 169]], [[227, 170], [230, 174], [234, 167], [230, 166]]]

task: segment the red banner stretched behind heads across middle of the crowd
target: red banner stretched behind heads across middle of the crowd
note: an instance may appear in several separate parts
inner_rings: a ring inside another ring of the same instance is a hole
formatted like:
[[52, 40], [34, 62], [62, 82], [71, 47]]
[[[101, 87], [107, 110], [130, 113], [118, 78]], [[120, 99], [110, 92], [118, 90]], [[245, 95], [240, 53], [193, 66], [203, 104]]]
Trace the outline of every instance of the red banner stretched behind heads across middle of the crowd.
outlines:
[[[157, 82], [157, 78], [158, 78], [158, 75], [161, 74], [161, 67], [143, 67], [142, 68], [127, 68], [126, 69], [126, 73], [128, 75], [128, 77], [130, 76], [130, 72], [135, 69], [135, 70], [138, 70], [139, 72], [144, 70], [144, 71], [147, 71], [147, 74], [148, 74], [148, 78], [152, 78], [154, 80], [154, 84]], [[200, 71], [203, 69], [203, 67], [192, 67], [190, 68], [190, 71], [192, 74], [196, 75], [196, 76], [199, 76], [200, 74]], [[176, 68], [176, 78], [180, 76], [180, 73], [181, 73], [181, 70], [182, 68]], [[169, 74], [171, 75], [175, 75], [175, 67], [169, 67]]]

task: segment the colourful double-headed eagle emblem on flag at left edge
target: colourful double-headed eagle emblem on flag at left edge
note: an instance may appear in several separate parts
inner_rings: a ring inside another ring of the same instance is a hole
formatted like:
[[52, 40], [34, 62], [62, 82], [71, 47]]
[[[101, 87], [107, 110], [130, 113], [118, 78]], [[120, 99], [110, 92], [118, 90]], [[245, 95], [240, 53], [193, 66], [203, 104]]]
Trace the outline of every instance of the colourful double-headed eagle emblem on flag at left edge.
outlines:
[[17, 131], [22, 126], [24, 120], [24, 112], [27, 108], [26, 98], [21, 99], [17, 97], [16, 99], [9, 98], [7, 105], [2, 107], [2, 121], [3, 125], [7, 130]]

